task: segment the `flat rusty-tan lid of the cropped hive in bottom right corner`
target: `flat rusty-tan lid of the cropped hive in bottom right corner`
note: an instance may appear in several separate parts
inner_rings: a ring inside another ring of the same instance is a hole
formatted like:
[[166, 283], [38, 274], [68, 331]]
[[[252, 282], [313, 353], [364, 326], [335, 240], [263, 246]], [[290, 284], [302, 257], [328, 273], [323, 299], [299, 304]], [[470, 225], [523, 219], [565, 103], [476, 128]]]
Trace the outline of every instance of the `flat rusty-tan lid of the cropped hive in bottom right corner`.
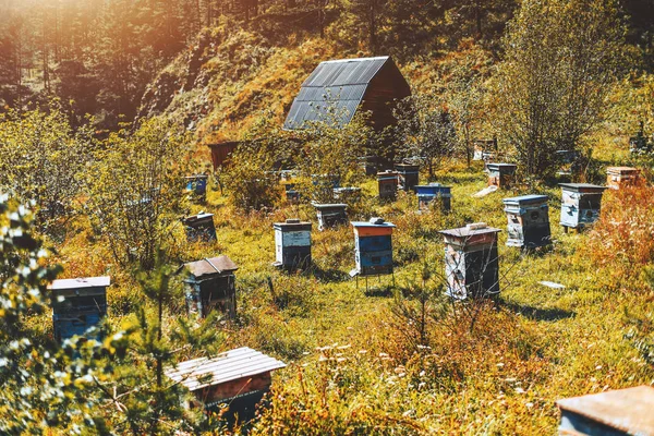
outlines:
[[589, 417], [630, 435], [654, 435], [654, 388], [639, 386], [558, 400], [561, 412]]

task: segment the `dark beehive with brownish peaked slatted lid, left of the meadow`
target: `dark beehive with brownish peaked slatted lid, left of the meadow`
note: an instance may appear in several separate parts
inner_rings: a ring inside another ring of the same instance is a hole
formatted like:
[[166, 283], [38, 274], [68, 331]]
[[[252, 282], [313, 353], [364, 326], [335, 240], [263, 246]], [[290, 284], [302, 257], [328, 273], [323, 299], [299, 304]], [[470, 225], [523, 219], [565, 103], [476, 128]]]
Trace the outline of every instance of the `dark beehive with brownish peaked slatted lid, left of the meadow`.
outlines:
[[189, 313], [206, 317], [218, 310], [230, 318], [237, 316], [234, 271], [239, 269], [228, 256], [204, 258], [184, 265], [189, 271], [186, 307]]

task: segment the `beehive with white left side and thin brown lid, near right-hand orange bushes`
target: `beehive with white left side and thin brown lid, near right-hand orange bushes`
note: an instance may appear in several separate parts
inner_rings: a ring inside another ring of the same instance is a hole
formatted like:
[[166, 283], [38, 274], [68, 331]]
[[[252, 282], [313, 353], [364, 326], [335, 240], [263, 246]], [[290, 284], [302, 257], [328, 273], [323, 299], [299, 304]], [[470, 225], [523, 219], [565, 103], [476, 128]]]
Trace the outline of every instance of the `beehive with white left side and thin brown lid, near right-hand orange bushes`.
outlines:
[[600, 218], [605, 186], [588, 183], [559, 183], [561, 186], [561, 219], [565, 231], [581, 229]]

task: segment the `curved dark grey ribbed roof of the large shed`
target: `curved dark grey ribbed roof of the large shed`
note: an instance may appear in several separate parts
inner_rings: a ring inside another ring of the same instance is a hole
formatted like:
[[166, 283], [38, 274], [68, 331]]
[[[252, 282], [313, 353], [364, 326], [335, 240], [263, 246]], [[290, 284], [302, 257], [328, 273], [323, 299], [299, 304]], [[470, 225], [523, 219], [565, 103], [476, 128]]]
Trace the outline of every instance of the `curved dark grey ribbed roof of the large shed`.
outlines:
[[335, 121], [337, 125], [349, 123], [370, 82], [388, 60], [385, 56], [320, 62], [302, 84], [283, 123], [284, 129], [302, 129], [312, 121]]

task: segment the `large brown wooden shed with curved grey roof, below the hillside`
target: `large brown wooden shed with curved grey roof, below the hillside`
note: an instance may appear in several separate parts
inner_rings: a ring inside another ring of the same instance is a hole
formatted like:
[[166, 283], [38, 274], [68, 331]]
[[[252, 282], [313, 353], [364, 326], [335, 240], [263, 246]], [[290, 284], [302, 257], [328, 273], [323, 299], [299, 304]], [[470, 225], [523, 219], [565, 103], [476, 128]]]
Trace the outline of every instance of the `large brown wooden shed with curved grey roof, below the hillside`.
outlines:
[[305, 129], [312, 121], [342, 126], [363, 110], [371, 112], [371, 125], [382, 130], [396, 122], [392, 102], [410, 95], [409, 83], [388, 56], [325, 61], [302, 84], [283, 128]]

